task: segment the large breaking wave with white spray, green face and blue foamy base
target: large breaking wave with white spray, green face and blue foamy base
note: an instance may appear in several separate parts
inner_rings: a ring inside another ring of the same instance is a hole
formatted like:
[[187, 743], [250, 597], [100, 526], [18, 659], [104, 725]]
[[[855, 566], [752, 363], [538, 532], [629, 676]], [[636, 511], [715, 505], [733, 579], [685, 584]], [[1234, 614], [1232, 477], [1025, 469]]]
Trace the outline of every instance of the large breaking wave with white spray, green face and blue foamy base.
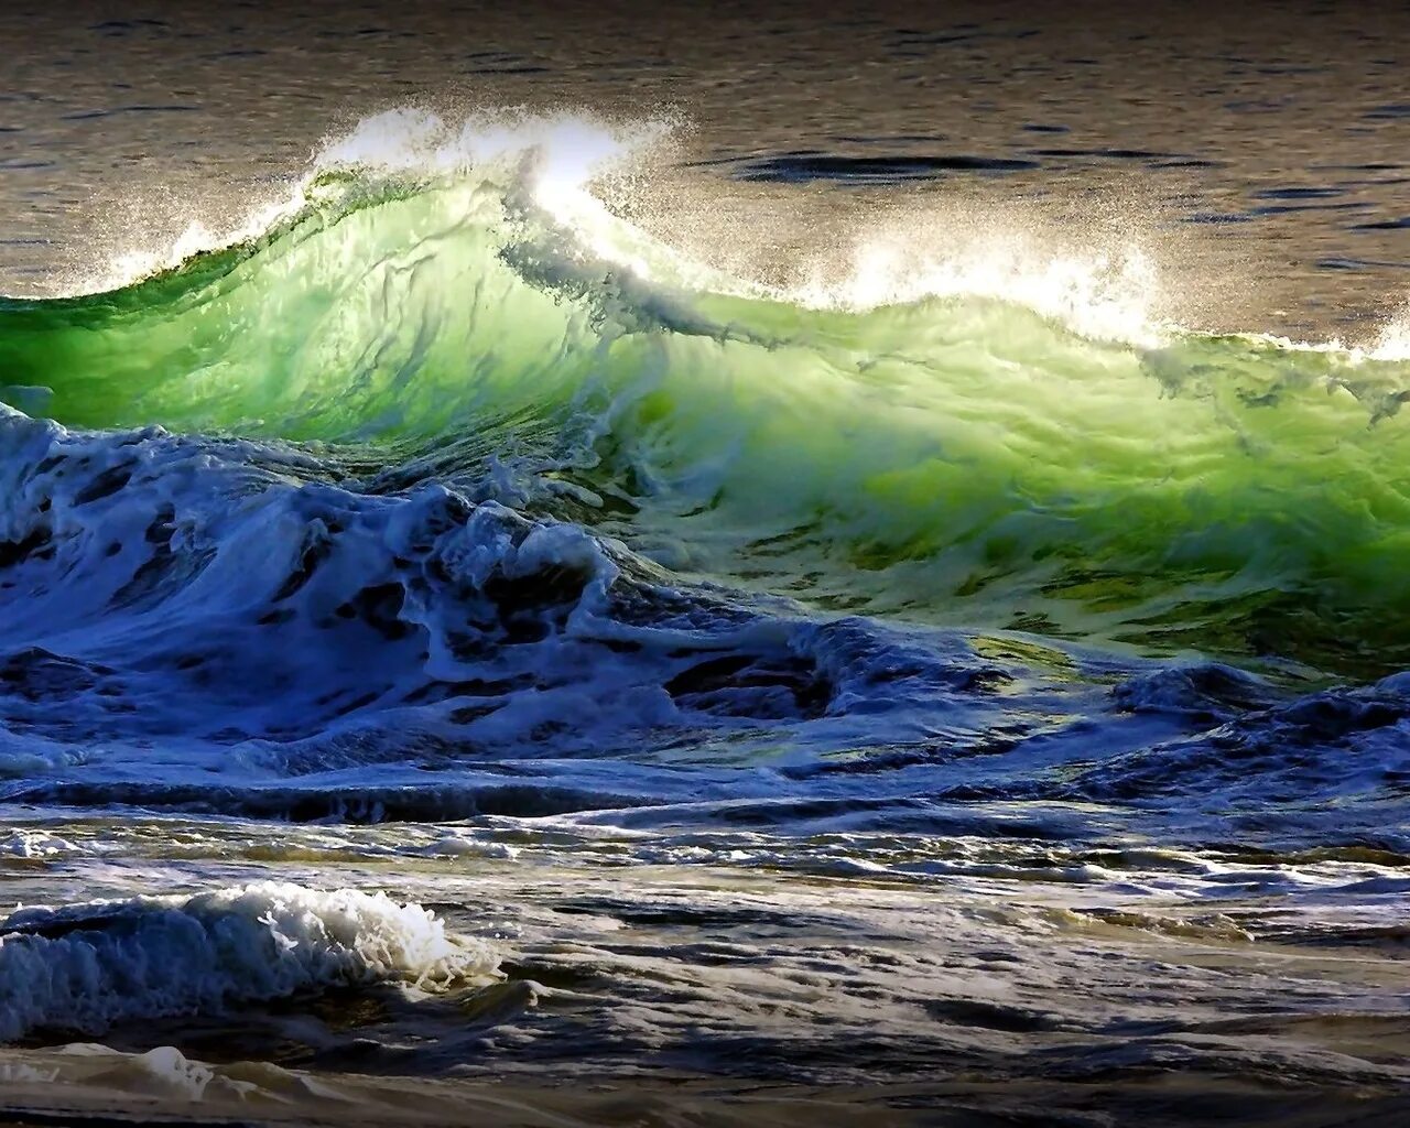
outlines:
[[1390, 344], [1160, 326], [1110, 261], [732, 279], [589, 193], [640, 140], [372, 120], [0, 303], [0, 798], [1220, 836], [1246, 768], [1270, 840], [1400, 849]]

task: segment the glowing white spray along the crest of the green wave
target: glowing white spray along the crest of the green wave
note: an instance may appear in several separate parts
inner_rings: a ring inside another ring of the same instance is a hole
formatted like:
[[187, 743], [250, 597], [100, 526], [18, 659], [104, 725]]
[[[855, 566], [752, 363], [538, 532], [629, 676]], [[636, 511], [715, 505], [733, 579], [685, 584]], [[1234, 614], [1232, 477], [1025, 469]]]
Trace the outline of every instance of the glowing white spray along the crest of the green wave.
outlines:
[[[622, 121], [584, 110], [482, 109], [454, 120], [426, 109], [389, 110], [331, 137], [285, 190], [247, 209], [237, 221], [193, 217], [173, 241], [117, 254], [97, 274], [78, 279], [72, 292], [111, 290], [254, 243], [324, 206], [330, 176], [348, 179], [345, 188], [354, 196], [374, 197], [388, 182], [475, 180], [492, 182], [510, 214], [532, 209], [539, 220], [554, 224], [557, 251], [565, 261], [615, 265], [639, 279], [687, 290], [829, 310], [874, 310], [935, 298], [991, 299], [1031, 309], [1084, 337], [1138, 347], [1162, 345], [1177, 331], [1160, 310], [1179, 295], [1167, 292], [1156, 258], [1141, 241], [1076, 243], [1035, 228], [1021, 214], [973, 216], [949, 203], [856, 231], [840, 254], [802, 262], [801, 285], [712, 269], [618, 214], [620, 204], [651, 196], [650, 164], [667, 154], [681, 128], [670, 114]], [[760, 252], [764, 241], [760, 235]], [[746, 251], [742, 259], [752, 255]], [[799, 264], [773, 264], [771, 269], [777, 266], [797, 274]], [[1362, 348], [1340, 341], [1320, 347], [1354, 358], [1407, 360], [1410, 314], [1393, 319]]]

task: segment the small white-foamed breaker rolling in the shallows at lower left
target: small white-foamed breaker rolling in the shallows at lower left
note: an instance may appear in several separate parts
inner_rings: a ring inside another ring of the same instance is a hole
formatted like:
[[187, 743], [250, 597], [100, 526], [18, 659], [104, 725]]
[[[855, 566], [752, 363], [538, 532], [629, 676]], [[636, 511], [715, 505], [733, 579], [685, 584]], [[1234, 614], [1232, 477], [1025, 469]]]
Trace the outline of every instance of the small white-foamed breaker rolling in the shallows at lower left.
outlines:
[[450, 986], [496, 964], [489, 946], [382, 893], [268, 881], [24, 908], [0, 921], [0, 1041], [347, 984]]

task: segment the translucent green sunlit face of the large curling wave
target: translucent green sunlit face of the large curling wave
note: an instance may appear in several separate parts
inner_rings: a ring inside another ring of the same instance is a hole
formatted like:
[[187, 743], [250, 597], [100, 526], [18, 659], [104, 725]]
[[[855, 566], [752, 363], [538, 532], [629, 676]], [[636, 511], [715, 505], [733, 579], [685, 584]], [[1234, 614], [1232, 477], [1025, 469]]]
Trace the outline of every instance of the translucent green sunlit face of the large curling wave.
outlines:
[[991, 296], [809, 309], [582, 223], [509, 173], [326, 175], [254, 241], [0, 302], [0, 399], [360, 465], [532, 450], [572, 516], [833, 609], [1410, 664], [1410, 365]]

